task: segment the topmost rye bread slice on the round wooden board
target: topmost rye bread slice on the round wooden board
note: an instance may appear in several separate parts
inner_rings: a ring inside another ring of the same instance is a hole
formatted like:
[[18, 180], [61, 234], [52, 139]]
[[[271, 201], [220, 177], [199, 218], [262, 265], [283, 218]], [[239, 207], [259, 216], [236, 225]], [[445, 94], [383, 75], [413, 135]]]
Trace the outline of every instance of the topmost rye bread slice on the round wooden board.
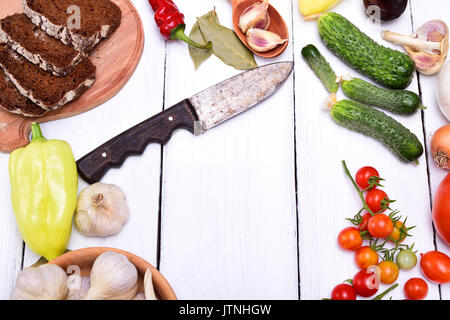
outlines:
[[[69, 28], [77, 21], [71, 19], [73, 6], [80, 9], [79, 29]], [[122, 17], [120, 8], [110, 0], [23, 0], [23, 8], [35, 25], [85, 54], [109, 37]]]

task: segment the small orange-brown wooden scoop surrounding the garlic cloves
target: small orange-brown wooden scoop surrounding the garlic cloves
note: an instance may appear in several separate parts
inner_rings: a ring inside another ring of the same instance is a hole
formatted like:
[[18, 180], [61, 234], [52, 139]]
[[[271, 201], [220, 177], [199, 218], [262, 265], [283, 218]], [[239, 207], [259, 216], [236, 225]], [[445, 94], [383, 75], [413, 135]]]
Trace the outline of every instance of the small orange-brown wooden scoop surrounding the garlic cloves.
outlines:
[[251, 6], [253, 3], [257, 1], [260, 0], [231, 0], [231, 3], [233, 5], [234, 31], [236, 32], [239, 39], [241, 39], [242, 43], [244, 43], [247, 46], [247, 48], [249, 48], [254, 54], [263, 58], [274, 58], [276, 56], [279, 56], [284, 52], [284, 50], [286, 50], [289, 44], [289, 29], [281, 14], [272, 5], [269, 5], [268, 10], [270, 16], [270, 26], [268, 30], [278, 34], [282, 39], [288, 39], [288, 41], [286, 41], [283, 44], [280, 44], [278, 47], [275, 47], [270, 51], [257, 52], [248, 46], [247, 36], [239, 28], [239, 18], [241, 17], [242, 12], [244, 12], [245, 9], [247, 9], [249, 6]]

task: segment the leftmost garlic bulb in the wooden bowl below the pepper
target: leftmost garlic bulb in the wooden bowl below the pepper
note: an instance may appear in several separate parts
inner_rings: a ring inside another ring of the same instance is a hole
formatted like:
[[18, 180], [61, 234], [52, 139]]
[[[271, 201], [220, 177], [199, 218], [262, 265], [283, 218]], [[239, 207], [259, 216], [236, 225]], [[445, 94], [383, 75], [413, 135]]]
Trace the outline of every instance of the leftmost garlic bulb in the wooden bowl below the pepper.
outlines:
[[67, 292], [64, 270], [54, 264], [44, 264], [19, 273], [11, 300], [63, 300]]

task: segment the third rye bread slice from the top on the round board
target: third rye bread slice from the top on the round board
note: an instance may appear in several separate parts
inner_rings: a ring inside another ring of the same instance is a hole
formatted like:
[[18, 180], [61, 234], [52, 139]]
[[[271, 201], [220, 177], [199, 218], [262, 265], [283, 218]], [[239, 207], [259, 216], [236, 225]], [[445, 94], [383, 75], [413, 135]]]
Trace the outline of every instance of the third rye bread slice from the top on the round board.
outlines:
[[75, 100], [95, 81], [95, 66], [83, 58], [65, 77], [42, 70], [24, 57], [0, 44], [0, 66], [20, 93], [45, 110], [55, 110]]

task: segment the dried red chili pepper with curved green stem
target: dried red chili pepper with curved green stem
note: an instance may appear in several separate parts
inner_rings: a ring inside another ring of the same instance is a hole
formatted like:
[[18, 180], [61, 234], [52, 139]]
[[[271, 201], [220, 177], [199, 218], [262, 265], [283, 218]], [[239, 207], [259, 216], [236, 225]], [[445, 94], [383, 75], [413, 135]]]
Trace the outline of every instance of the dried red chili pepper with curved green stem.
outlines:
[[201, 45], [186, 36], [184, 15], [172, 0], [148, 0], [148, 2], [155, 11], [155, 21], [159, 31], [166, 39], [181, 40], [199, 49], [211, 48], [211, 43]]

